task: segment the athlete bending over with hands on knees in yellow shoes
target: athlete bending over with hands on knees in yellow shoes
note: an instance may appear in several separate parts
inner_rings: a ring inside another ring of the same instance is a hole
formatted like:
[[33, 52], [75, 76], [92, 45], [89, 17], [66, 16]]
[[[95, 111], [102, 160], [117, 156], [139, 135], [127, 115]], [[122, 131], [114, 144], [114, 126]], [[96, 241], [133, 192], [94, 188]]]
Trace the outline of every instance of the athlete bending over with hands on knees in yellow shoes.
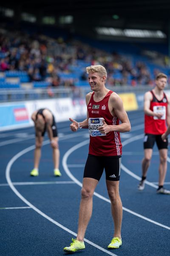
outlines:
[[48, 132], [51, 147], [53, 149], [54, 176], [61, 176], [59, 171], [59, 146], [57, 126], [53, 114], [46, 108], [34, 111], [31, 116], [35, 127], [35, 151], [34, 151], [34, 169], [30, 172], [31, 176], [38, 176], [38, 167], [41, 157], [41, 147], [45, 131]]

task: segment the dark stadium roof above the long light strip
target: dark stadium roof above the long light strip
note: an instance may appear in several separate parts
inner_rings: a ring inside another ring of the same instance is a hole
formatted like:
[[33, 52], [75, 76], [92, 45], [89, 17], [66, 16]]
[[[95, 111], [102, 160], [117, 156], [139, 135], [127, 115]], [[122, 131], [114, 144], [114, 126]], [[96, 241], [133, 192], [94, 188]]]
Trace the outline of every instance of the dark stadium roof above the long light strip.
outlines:
[[70, 27], [91, 35], [96, 27], [159, 30], [167, 37], [170, 34], [170, 0], [15, 0], [3, 6], [38, 17], [53, 15], [59, 19], [70, 15], [74, 20]]

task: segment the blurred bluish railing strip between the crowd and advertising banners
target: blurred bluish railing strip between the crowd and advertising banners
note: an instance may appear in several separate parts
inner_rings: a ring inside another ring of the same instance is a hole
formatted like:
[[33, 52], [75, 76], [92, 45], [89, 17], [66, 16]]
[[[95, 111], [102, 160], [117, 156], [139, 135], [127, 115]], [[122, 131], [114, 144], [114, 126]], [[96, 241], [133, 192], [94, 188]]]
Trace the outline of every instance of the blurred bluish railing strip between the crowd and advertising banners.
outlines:
[[[150, 86], [114, 86], [107, 87], [116, 93], [135, 93], [144, 94], [147, 90], [152, 90], [153, 87]], [[166, 88], [170, 90], [170, 86]], [[0, 89], [0, 102], [11, 102], [11, 101], [25, 101], [34, 99], [54, 99], [54, 98], [64, 98], [70, 97], [75, 98], [85, 98], [85, 95], [90, 91], [89, 86], [80, 87], [47, 87], [47, 88], [1, 88]]]

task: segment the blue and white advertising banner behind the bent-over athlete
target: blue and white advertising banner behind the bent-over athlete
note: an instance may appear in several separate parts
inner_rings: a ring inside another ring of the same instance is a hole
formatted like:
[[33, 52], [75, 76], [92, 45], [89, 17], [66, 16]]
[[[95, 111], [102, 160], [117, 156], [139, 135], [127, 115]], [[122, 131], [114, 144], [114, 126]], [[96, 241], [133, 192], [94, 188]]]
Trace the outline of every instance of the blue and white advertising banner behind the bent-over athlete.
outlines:
[[0, 131], [34, 125], [31, 114], [40, 108], [51, 110], [56, 122], [77, 117], [71, 98], [0, 103]]

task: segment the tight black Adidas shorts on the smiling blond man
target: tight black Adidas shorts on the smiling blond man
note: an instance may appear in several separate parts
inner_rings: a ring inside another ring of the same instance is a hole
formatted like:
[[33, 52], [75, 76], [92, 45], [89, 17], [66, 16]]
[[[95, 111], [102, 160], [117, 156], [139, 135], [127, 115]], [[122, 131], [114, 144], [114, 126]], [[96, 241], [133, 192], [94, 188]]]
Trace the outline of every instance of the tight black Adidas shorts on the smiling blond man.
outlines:
[[100, 180], [105, 169], [106, 180], [120, 179], [121, 156], [100, 157], [88, 154], [84, 178]]

